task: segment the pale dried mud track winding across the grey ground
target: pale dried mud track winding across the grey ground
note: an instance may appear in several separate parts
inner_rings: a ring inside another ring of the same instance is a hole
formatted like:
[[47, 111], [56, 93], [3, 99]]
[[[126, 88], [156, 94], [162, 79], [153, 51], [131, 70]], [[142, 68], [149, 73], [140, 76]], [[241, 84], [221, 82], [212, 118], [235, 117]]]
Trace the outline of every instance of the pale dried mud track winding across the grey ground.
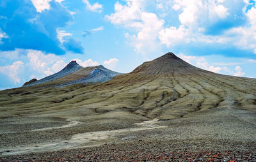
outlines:
[[[131, 133], [132, 131], [143, 131], [148, 129], [159, 129], [166, 128], [167, 126], [159, 126], [157, 125], [158, 119], [153, 119], [151, 121], [144, 121], [137, 123], [138, 128], [125, 128], [125, 129], [115, 129], [111, 131], [92, 131], [87, 133], [79, 133], [77, 135], [72, 136], [70, 140], [60, 140], [53, 143], [43, 143], [43, 144], [35, 144], [30, 145], [29, 147], [13, 147], [1, 149], [1, 156], [6, 155], [15, 155], [15, 154], [26, 154], [29, 152], [45, 152], [45, 151], [58, 151], [61, 149], [75, 149], [81, 147], [91, 147], [95, 145], [104, 144], [104, 140], [109, 140], [116, 138], [120, 135], [125, 135], [126, 133]], [[71, 122], [70, 124], [75, 124], [77, 122]], [[67, 124], [64, 126], [70, 126]], [[63, 128], [60, 127], [60, 128]], [[58, 128], [49, 128], [49, 129], [58, 129]], [[33, 131], [44, 131], [44, 129], [35, 129]]]

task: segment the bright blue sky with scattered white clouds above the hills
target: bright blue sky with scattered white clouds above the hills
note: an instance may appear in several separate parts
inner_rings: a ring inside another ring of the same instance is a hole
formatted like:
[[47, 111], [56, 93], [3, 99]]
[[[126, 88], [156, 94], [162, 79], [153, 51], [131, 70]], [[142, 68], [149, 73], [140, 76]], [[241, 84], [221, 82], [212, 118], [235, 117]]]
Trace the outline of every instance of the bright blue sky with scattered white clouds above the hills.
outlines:
[[167, 52], [204, 70], [256, 78], [255, 1], [0, 1], [0, 90], [72, 60], [129, 73]]

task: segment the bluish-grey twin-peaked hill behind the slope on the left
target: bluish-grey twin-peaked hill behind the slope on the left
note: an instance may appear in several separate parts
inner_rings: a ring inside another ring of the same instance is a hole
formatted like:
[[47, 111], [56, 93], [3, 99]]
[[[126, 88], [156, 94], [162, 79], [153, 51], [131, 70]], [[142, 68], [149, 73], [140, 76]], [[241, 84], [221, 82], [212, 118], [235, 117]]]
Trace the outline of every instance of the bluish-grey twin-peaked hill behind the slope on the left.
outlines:
[[111, 80], [111, 78], [120, 74], [122, 73], [108, 70], [102, 65], [83, 68], [83, 66], [77, 64], [76, 61], [70, 61], [70, 63], [68, 63], [67, 66], [58, 73], [54, 73], [53, 75], [40, 80], [30, 80], [23, 86], [28, 87], [38, 85], [39, 87], [63, 87], [81, 83], [96, 84], [107, 82], [108, 80]]

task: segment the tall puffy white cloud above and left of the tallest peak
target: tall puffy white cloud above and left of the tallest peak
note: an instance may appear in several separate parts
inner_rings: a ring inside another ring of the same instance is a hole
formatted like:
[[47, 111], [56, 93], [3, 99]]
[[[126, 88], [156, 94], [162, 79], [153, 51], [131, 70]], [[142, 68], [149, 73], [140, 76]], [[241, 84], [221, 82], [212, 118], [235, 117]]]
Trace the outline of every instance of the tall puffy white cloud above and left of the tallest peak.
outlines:
[[134, 49], [141, 54], [156, 50], [158, 33], [163, 29], [164, 21], [155, 13], [143, 11], [145, 1], [126, 0], [126, 5], [115, 4], [115, 13], [106, 15], [106, 18], [115, 25], [124, 26], [137, 34], [125, 36], [131, 40]]

